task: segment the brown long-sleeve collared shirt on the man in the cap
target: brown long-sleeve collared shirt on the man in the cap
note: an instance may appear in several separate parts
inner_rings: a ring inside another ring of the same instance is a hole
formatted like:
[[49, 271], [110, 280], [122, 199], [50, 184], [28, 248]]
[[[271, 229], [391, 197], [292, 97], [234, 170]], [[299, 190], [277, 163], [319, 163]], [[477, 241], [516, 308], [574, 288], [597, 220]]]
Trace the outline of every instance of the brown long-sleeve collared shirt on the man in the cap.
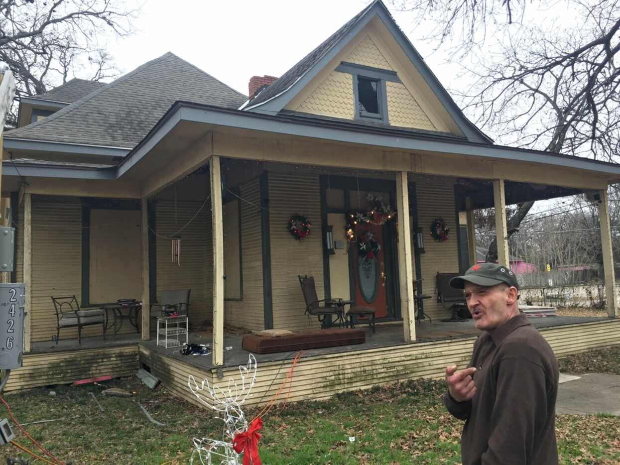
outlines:
[[482, 334], [468, 366], [477, 368], [474, 397], [444, 396], [448, 411], [466, 420], [463, 465], [556, 465], [557, 360], [525, 315]]

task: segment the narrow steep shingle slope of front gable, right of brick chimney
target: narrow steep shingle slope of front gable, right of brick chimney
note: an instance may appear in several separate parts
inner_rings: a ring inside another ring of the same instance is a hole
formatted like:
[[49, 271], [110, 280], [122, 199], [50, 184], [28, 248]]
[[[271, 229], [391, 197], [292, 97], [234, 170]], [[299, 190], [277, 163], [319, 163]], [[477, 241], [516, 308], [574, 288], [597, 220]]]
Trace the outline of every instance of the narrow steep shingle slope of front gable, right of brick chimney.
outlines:
[[272, 97], [275, 97], [278, 94], [286, 91], [289, 87], [291, 87], [301, 76], [303, 76], [306, 71], [308, 71], [314, 64], [316, 64], [321, 58], [327, 53], [334, 45], [336, 45], [341, 38], [347, 35], [349, 29], [355, 25], [355, 23], [368, 11], [371, 7], [373, 7], [375, 2], [372, 2], [365, 9], [360, 11], [358, 14], [352, 17], [352, 19], [348, 20], [348, 22], [343, 25], [339, 30], [330, 35], [329, 38], [324, 40], [324, 42], [319, 45], [319, 47], [312, 50], [308, 55], [304, 56], [301, 60], [298, 61], [297, 64], [293, 66], [293, 68], [286, 71], [286, 73], [282, 74], [279, 79], [273, 81], [270, 86], [265, 87], [262, 91], [260, 91], [254, 99], [250, 100], [248, 107], [252, 105], [257, 105], [262, 102], [266, 102]]

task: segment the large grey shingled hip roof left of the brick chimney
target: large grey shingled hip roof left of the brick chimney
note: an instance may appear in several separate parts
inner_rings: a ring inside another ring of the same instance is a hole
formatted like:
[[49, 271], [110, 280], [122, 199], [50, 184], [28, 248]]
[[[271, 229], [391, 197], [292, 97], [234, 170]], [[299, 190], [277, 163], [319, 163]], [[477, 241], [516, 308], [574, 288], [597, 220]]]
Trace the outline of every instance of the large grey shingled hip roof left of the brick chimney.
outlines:
[[177, 100], [239, 108], [247, 97], [168, 52], [5, 138], [133, 148]]

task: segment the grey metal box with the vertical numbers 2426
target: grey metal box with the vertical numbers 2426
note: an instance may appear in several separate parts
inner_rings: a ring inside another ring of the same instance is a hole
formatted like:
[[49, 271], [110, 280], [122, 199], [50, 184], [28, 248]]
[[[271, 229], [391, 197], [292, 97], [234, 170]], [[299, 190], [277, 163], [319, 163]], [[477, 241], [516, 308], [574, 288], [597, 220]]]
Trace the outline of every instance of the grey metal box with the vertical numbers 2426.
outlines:
[[25, 283], [0, 283], [0, 370], [22, 366]]

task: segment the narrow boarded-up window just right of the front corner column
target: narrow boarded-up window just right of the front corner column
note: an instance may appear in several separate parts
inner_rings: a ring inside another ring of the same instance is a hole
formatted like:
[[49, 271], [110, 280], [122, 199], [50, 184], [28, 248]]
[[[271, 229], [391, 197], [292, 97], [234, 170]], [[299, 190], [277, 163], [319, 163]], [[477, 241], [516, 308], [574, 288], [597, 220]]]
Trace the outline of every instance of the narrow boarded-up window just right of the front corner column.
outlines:
[[241, 299], [241, 241], [239, 224], [239, 200], [223, 206], [224, 229], [224, 298]]

